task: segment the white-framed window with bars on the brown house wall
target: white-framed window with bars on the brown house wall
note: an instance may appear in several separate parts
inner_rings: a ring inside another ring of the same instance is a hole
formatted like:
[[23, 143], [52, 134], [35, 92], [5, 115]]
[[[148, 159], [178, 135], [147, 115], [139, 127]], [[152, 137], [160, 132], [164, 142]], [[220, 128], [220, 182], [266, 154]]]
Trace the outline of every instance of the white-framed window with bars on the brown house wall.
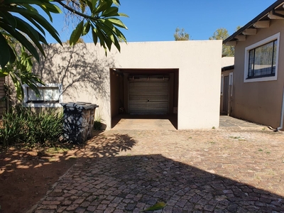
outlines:
[[244, 82], [277, 80], [279, 35], [246, 48]]

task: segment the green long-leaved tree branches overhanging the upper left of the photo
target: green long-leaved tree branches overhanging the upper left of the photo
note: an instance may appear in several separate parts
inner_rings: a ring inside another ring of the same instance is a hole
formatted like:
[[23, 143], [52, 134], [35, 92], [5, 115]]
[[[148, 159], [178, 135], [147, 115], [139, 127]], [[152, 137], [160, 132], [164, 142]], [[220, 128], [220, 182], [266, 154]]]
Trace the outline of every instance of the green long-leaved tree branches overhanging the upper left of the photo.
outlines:
[[[51, 14], [62, 13], [59, 6], [79, 20], [70, 35], [70, 45], [75, 45], [81, 36], [92, 33], [94, 43], [99, 42], [106, 54], [111, 45], [120, 51], [119, 40], [126, 42], [126, 38], [119, 28], [127, 28], [119, 19], [126, 16], [119, 13], [119, 5], [119, 0], [0, 0], [0, 77], [16, 74], [21, 67], [22, 73], [26, 70], [27, 79], [15, 78], [18, 80], [14, 82], [16, 90], [21, 91], [17, 87], [28, 82], [37, 92], [36, 82], [40, 80], [31, 73], [31, 60], [34, 57], [39, 61], [38, 51], [45, 56], [42, 47], [42, 44], [48, 45], [45, 32], [62, 45], [58, 31], [51, 25]], [[42, 11], [48, 15], [49, 21], [40, 15]], [[17, 48], [15, 43], [23, 48]]]

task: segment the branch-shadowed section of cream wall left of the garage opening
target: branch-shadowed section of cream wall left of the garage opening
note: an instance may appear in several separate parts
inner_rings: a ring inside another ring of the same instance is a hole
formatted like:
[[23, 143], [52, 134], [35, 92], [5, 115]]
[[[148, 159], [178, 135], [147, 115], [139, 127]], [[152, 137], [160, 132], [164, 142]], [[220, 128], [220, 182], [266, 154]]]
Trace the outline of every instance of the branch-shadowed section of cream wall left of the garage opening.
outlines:
[[[62, 84], [63, 102], [91, 102], [103, 107], [109, 101], [109, 73], [113, 66], [111, 58], [99, 59], [95, 48], [80, 43], [75, 47], [67, 45], [44, 46], [45, 55], [33, 71], [45, 83]], [[102, 121], [101, 109], [94, 118]], [[102, 121], [104, 123], [104, 121]]]

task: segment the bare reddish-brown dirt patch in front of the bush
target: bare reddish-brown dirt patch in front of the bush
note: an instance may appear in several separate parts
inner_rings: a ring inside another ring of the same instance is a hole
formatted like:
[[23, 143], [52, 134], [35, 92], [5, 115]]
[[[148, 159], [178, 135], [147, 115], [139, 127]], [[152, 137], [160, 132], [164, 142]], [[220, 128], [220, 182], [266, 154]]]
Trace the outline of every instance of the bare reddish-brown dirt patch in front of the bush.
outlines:
[[82, 146], [0, 150], [0, 212], [26, 212], [75, 163]]

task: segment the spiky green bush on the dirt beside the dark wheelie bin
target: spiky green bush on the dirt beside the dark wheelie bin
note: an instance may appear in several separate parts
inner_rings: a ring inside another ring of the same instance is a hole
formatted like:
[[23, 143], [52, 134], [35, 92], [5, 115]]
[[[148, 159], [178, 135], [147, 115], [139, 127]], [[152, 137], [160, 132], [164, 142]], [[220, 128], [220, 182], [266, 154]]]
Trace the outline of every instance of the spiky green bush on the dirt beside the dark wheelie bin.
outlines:
[[62, 112], [36, 113], [18, 105], [4, 113], [0, 140], [3, 146], [14, 143], [26, 143], [29, 146], [53, 144], [62, 135], [62, 122]]

